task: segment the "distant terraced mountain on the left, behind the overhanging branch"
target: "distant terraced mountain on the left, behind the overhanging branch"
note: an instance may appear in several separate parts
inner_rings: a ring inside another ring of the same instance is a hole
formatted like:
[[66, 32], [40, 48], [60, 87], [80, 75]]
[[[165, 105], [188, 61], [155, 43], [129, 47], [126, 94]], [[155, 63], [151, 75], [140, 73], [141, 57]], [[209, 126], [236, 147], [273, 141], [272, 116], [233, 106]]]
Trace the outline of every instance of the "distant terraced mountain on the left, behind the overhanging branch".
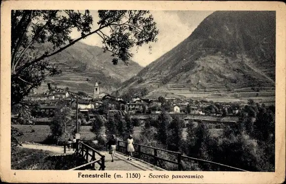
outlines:
[[[36, 49], [38, 53], [44, 53], [53, 48], [45, 43], [37, 45]], [[45, 83], [36, 91], [46, 91], [47, 83], [51, 83], [59, 88], [69, 87], [71, 91], [92, 94], [93, 87], [98, 82], [101, 92], [111, 92], [142, 69], [142, 66], [134, 61], [128, 61], [128, 65], [122, 61], [114, 65], [111, 62], [110, 52], [104, 53], [102, 48], [82, 42], [76, 42], [48, 60], [57, 65], [62, 70], [62, 74], [47, 77]]]

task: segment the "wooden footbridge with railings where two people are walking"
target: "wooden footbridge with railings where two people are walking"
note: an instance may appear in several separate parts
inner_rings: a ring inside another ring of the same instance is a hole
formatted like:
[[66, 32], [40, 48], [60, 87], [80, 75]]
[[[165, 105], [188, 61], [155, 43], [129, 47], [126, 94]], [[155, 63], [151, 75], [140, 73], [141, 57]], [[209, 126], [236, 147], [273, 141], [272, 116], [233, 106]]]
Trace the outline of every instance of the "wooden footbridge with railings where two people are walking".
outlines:
[[[167, 170], [167, 166], [170, 168], [171, 164], [172, 170], [186, 171], [188, 170], [189, 165], [198, 163], [202, 166], [202, 168], [206, 168], [206, 171], [209, 169], [216, 171], [246, 171], [213, 161], [192, 158], [179, 152], [173, 152], [141, 144], [134, 144], [134, 159], [128, 160], [128, 156], [125, 154], [127, 150], [126, 141], [117, 142], [114, 162], [111, 162], [111, 156], [108, 154], [108, 152], [99, 152], [81, 141], [77, 141], [76, 144], [77, 146], [74, 153], [76, 156], [84, 158], [87, 163], [70, 170], [164, 171]], [[64, 145], [64, 153], [67, 153], [67, 145], [68, 144]]]

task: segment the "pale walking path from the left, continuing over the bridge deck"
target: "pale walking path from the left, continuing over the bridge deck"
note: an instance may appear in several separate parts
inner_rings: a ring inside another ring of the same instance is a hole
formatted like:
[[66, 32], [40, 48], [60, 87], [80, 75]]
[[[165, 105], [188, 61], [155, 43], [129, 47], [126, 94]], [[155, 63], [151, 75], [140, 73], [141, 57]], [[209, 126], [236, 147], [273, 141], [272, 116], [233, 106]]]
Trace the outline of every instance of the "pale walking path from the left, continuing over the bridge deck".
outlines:
[[[52, 155], [63, 155], [64, 147], [61, 146], [47, 146], [47, 145], [36, 145], [36, 144], [22, 144], [23, 148], [36, 149], [49, 151]], [[68, 151], [66, 154], [72, 154], [74, 151]], [[92, 154], [91, 151], [89, 153]], [[162, 171], [163, 169], [156, 167], [152, 164], [144, 162], [142, 160], [133, 158], [133, 160], [127, 160], [128, 156], [122, 153], [115, 153], [114, 162], [111, 162], [111, 155], [108, 152], [101, 152], [105, 155], [105, 170], [122, 170], [122, 171], [153, 171], [158, 170]], [[91, 158], [91, 157], [90, 157]], [[96, 159], [99, 158], [99, 155], [96, 156]], [[97, 165], [96, 165], [97, 166]], [[99, 165], [98, 168], [99, 169]]]

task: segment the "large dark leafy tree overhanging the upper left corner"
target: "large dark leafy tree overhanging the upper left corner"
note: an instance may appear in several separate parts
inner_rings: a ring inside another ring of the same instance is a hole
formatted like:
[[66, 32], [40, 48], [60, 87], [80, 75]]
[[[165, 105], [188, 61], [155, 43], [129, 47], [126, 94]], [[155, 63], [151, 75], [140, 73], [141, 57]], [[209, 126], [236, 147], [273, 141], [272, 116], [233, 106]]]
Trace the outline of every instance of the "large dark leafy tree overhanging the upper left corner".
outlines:
[[[133, 57], [132, 47], [157, 41], [158, 30], [149, 11], [99, 10], [98, 16], [98, 28], [92, 30], [94, 23], [89, 10], [12, 10], [12, 105], [21, 103], [47, 75], [61, 73], [48, 58], [91, 34], [102, 38], [103, 49], [111, 52], [113, 64], [118, 61], [128, 64]], [[77, 29], [81, 36], [73, 40], [72, 29]], [[37, 47], [43, 43], [49, 43], [52, 48], [40, 52]]]

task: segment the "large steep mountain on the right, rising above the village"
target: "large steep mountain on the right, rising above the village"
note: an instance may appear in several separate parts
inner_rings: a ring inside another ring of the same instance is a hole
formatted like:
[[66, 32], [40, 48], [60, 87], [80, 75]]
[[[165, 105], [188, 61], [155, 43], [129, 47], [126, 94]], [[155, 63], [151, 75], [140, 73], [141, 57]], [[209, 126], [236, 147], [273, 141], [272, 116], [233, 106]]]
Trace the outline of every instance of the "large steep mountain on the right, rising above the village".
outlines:
[[209, 98], [240, 98], [260, 90], [272, 95], [275, 21], [275, 11], [216, 11], [118, 90], [147, 88], [149, 96]]

